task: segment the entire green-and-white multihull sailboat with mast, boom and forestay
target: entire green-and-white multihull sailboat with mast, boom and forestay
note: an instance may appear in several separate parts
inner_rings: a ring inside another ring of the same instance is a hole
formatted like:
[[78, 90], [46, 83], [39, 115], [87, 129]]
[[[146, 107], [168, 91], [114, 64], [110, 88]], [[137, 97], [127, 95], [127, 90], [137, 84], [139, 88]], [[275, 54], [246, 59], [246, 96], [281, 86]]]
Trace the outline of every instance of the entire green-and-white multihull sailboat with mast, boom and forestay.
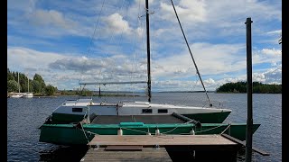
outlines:
[[[172, 1], [171, 1], [172, 2]], [[177, 16], [174, 5], [173, 10]], [[40, 141], [55, 144], [88, 144], [95, 135], [145, 134], [219, 134], [227, 133], [237, 139], [246, 137], [246, 123], [222, 123], [229, 109], [180, 106], [151, 102], [149, 8], [145, 0], [147, 35], [147, 81], [136, 82], [79, 82], [80, 85], [146, 83], [147, 102], [94, 103], [90, 99], [68, 100], [56, 108], [41, 126]], [[182, 25], [177, 16], [180, 27]], [[182, 31], [184, 39], [184, 32]], [[194, 62], [194, 59], [191, 55]], [[200, 72], [194, 62], [197, 73]], [[200, 82], [203, 85], [201, 78]], [[204, 85], [203, 85], [204, 87]], [[255, 131], [260, 124], [254, 124]]]

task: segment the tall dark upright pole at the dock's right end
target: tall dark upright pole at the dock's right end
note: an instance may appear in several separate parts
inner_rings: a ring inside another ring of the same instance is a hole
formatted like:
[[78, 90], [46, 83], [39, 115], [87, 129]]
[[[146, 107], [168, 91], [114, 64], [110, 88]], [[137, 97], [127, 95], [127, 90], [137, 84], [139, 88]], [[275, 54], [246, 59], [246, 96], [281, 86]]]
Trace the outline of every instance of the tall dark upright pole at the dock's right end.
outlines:
[[247, 131], [246, 131], [246, 162], [252, 161], [252, 139], [253, 139], [253, 100], [252, 100], [252, 40], [251, 40], [251, 18], [246, 21], [247, 27]]

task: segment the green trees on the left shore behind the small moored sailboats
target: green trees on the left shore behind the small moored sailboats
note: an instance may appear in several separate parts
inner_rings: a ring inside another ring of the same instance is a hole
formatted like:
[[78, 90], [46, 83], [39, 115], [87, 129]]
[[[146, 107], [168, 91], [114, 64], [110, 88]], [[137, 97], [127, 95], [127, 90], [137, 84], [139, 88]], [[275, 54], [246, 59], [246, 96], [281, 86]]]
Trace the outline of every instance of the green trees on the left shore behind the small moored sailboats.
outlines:
[[[32, 92], [34, 95], [52, 95], [57, 91], [56, 86], [46, 85], [42, 76], [35, 74], [33, 80], [29, 79], [23, 73], [19, 73], [19, 84], [18, 84], [18, 73], [10, 71], [7, 68], [7, 92], [18, 92], [20, 88], [21, 93]], [[29, 81], [28, 81], [29, 79]], [[29, 89], [28, 89], [29, 83]]]

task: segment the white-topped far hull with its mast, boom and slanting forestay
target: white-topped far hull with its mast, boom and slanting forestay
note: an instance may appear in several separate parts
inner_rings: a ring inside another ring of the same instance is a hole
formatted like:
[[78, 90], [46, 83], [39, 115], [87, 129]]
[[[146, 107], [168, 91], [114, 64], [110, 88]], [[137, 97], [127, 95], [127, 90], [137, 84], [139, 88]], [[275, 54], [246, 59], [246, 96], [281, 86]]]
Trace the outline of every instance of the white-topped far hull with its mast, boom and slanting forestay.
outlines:
[[[206, 88], [200, 77], [199, 69], [195, 63], [194, 58], [191, 54], [191, 49], [186, 40], [185, 34], [182, 31], [184, 40], [186, 41], [187, 47], [190, 51], [194, 67], [200, 78], [200, 83], [204, 88], [207, 95], [210, 107], [195, 107], [195, 106], [181, 106], [172, 104], [161, 104], [151, 102], [151, 56], [150, 56], [150, 31], [149, 31], [149, 11], [148, 3], [146, 3], [146, 49], [147, 49], [147, 81], [133, 81], [133, 82], [79, 82], [79, 85], [117, 85], [117, 84], [147, 84], [147, 102], [134, 102], [134, 103], [94, 103], [92, 99], [78, 99], [74, 101], [66, 101], [62, 103], [55, 111], [52, 112], [52, 122], [71, 122], [81, 121], [86, 114], [95, 113], [97, 115], [167, 115], [176, 112], [182, 114], [191, 119], [200, 122], [223, 122], [228, 114], [231, 112], [229, 109], [214, 108], [210, 103], [210, 98], [207, 94]], [[173, 7], [174, 9], [174, 7]], [[175, 10], [174, 10], [175, 11]], [[176, 14], [176, 11], [175, 11]], [[176, 14], [177, 16], [177, 14]], [[179, 17], [177, 16], [180, 27]], [[100, 91], [100, 90], [99, 90]]]

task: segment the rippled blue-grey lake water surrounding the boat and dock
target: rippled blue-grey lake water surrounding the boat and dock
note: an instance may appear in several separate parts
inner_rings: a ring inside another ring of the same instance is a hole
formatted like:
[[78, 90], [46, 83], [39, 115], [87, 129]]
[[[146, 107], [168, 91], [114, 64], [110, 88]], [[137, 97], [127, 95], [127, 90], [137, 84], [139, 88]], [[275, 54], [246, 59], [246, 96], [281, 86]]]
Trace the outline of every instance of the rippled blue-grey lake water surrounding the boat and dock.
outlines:
[[[213, 105], [232, 112], [225, 122], [247, 122], [247, 94], [213, 94]], [[48, 115], [67, 99], [7, 98], [7, 160], [8, 161], [79, 161], [87, 148], [74, 148], [39, 142], [38, 129]], [[94, 97], [95, 102], [146, 101], [146, 97]], [[192, 106], [208, 105], [203, 93], [153, 93], [152, 102]], [[282, 94], [253, 94], [253, 120], [261, 126], [253, 135], [253, 147], [265, 150], [270, 156], [253, 152], [253, 161], [282, 161]], [[245, 149], [238, 153], [245, 161]]]

